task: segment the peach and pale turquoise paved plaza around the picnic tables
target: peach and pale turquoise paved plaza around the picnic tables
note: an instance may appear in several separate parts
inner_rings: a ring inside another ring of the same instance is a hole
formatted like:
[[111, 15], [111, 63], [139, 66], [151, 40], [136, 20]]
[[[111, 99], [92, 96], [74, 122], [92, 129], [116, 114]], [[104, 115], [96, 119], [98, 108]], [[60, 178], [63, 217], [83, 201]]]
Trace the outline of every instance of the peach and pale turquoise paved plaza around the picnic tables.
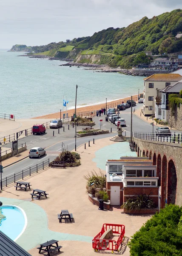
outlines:
[[[150, 218], [145, 215], [125, 215], [120, 209], [115, 208], [100, 211], [88, 200], [83, 175], [87, 175], [93, 169], [99, 172], [97, 164], [92, 161], [95, 158], [95, 151], [106, 145], [112, 147], [114, 144], [119, 145], [105, 138], [95, 141], [95, 144], [91, 143], [91, 147], [87, 147], [86, 150], [82, 145], [77, 149], [81, 155], [81, 166], [66, 169], [48, 168], [24, 180], [31, 183], [31, 189], [46, 190], [49, 194], [48, 199], [31, 200], [31, 191], [15, 190], [14, 184], [0, 193], [3, 204], [15, 204], [25, 210], [28, 226], [17, 239], [17, 243], [29, 250], [32, 256], [39, 255], [36, 248], [38, 244], [53, 238], [59, 240], [65, 256], [92, 256], [95, 252], [91, 240], [100, 232], [103, 223], [124, 224], [127, 240]], [[105, 166], [103, 167], [102, 172], [105, 173]], [[60, 224], [57, 213], [61, 209], [72, 212], [75, 222], [65, 224], [63, 221]], [[129, 256], [129, 248], [124, 244], [120, 254], [122, 253]], [[105, 253], [100, 253], [103, 254]]]

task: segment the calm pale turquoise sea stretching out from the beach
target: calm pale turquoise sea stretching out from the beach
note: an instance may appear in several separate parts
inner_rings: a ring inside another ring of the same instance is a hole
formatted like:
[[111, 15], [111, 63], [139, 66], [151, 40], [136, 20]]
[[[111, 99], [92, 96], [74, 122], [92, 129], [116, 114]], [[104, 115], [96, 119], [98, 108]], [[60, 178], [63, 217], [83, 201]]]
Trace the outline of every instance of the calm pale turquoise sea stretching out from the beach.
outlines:
[[143, 77], [96, 73], [77, 67], [60, 67], [63, 61], [18, 57], [21, 52], [0, 50], [0, 113], [30, 118], [124, 98], [142, 92]]

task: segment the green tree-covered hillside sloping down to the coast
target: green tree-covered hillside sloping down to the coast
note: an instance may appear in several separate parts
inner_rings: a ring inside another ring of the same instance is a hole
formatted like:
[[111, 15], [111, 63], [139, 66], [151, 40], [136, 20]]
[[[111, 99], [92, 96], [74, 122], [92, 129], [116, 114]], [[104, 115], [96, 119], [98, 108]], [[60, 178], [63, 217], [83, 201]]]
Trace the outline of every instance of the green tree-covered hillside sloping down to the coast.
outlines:
[[91, 37], [32, 47], [32, 51], [45, 55], [48, 51], [51, 56], [71, 56], [76, 60], [78, 55], [84, 55], [82, 60], [79, 58], [81, 62], [83, 59], [89, 62], [91, 55], [100, 55], [98, 64], [129, 68], [149, 61], [145, 51], [151, 51], [153, 55], [182, 51], [182, 38], [175, 38], [179, 33], [182, 33], [182, 9], [165, 12], [151, 19], [143, 17], [126, 28], [103, 29]]

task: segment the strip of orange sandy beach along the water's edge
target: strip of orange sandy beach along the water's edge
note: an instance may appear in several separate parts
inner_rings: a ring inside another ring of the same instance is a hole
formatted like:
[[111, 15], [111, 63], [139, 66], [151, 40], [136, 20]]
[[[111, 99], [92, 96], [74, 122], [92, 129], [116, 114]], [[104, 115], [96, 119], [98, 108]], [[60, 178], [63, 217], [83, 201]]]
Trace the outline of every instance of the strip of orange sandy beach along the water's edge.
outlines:
[[[123, 99], [117, 99], [117, 100], [114, 100], [114, 101], [111, 101], [111, 102], [107, 102], [107, 109], [110, 108], [110, 107], [111, 108], [112, 107], [113, 108], [117, 107], [117, 105], [121, 104], [122, 101], [124, 103], [126, 103], [126, 101], [128, 99], [131, 99], [131, 97], [126, 97], [126, 98], [123, 98]], [[138, 95], [134, 95], [133, 96], [133, 100], [137, 102], [138, 101]], [[79, 113], [79, 112], [86, 112], [86, 111], [97, 111], [97, 110], [100, 110], [101, 108], [104, 108], [104, 107], [105, 107], [105, 103], [91, 105], [91, 106], [85, 106], [85, 107], [77, 108], [77, 113]], [[63, 114], [64, 113], [66, 113], [66, 111], [61, 111], [62, 118], [63, 118]], [[67, 113], [68, 113], [68, 116], [73, 116], [74, 109], [67, 110]], [[48, 118], [48, 119], [60, 118], [60, 112], [51, 113], [51, 114], [44, 115], [44, 116], [34, 117], [34, 119], [38, 119], [38, 118]]]

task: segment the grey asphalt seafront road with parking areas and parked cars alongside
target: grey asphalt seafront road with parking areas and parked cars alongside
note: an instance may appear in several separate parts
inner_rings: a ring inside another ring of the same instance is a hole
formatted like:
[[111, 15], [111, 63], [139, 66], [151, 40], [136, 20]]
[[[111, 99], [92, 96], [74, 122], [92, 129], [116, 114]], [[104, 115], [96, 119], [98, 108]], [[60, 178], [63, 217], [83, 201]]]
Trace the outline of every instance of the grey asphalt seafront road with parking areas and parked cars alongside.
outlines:
[[[140, 108], [141, 105], [137, 104], [136, 107], [134, 107], [136, 110], [137, 108]], [[134, 109], [133, 108], [133, 109]], [[125, 111], [120, 111], [119, 116], [121, 118], [124, 118], [126, 121], [127, 126], [123, 128], [125, 135], [126, 136], [130, 135], [131, 132], [131, 108], [126, 109]], [[94, 117], [94, 121], [96, 123], [95, 128], [99, 128], [99, 119], [103, 119], [103, 126], [102, 129], [108, 129], [112, 132], [117, 131], [117, 127], [111, 122], [105, 122], [105, 116], [101, 117]], [[152, 121], [151, 121], [152, 122]], [[154, 132], [156, 131], [157, 126], [154, 126]], [[82, 129], [82, 127], [77, 127], [77, 130]], [[69, 130], [68, 130], [68, 125], [64, 124], [64, 130], [63, 128], [60, 128], [60, 134], [58, 134], [57, 129], [46, 129], [45, 134], [41, 135], [30, 135], [28, 137], [22, 138], [18, 140], [18, 145], [21, 143], [26, 143], [27, 149], [31, 149], [33, 147], [42, 147], [46, 148], [46, 156], [41, 157], [40, 159], [37, 158], [26, 158], [12, 166], [5, 167], [4, 172], [3, 172], [3, 177], [6, 177], [8, 175], [14, 174], [21, 172], [25, 169], [28, 169], [36, 164], [42, 163], [43, 161], [48, 160], [48, 158], [51, 160], [54, 160], [56, 156], [59, 154], [59, 152], [62, 150], [62, 143], [64, 144], [65, 148], [68, 148], [68, 150], [74, 150], [75, 148], [75, 126], [74, 128], [69, 125]], [[54, 136], [53, 136], [53, 131], [54, 131]], [[152, 125], [150, 123], [145, 122], [144, 120], [140, 119], [138, 116], [133, 115], [133, 131], [138, 131], [138, 132], [152, 132]], [[110, 134], [102, 134], [102, 135], [97, 135], [97, 136], [89, 136], [89, 137], [82, 137], [82, 138], [77, 138], [77, 147], [79, 145], [82, 145], [83, 143], [87, 143], [88, 140], [92, 141], [93, 138], [95, 140], [105, 138], [105, 137], [111, 137], [116, 134], [110, 133]], [[6, 144], [6, 147], [11, 147], [11, 143]], [[2, 145], [3, 146], [3, 145]]]

